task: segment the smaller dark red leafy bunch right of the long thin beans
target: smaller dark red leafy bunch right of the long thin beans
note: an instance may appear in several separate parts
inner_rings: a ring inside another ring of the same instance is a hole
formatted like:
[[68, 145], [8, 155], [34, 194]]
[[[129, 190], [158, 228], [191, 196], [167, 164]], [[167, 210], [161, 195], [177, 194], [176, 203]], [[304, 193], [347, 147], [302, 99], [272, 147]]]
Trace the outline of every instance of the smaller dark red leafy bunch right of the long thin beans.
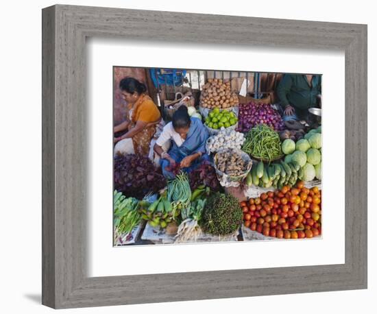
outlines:
[[217, 180], [215, 168], [208, 161], [202, 162], [201, 165], [189, 173], [189, 181], [193, 195], [195, 193], [194, 190], [202, 185], [208, 186], [215, 192], [221, 189], [220, 182]]

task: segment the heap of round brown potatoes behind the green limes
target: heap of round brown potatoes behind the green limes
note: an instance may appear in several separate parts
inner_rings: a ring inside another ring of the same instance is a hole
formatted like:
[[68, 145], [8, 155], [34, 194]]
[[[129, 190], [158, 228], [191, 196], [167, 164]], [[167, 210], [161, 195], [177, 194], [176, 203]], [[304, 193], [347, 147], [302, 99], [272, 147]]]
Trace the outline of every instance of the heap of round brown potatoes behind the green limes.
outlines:
[[213, 109], [215, 107], [226, 109], [239, 104], [236, 93], [230, 90], [230, 82], [223, 82], [221, 79], [208, 79], [204, 84], [200, 95], [200, 106]]

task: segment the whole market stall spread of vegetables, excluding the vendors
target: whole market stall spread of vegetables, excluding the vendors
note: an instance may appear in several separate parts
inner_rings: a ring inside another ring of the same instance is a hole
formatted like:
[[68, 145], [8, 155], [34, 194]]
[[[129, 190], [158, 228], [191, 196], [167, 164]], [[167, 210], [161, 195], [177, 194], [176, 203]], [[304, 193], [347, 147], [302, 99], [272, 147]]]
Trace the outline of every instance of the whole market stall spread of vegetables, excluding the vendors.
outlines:
[[115, 156], [114, 245], [320, 237], [320, 118], [285, 123], [248, 94], [248, 77], [237, 88], [234, 77], [197, 77], [199, 97], [165, 99], [162, 117], [187, 106], [209, 134], [210, 158], [189, 172], [170, 165], [165, 178], [150, 156]]

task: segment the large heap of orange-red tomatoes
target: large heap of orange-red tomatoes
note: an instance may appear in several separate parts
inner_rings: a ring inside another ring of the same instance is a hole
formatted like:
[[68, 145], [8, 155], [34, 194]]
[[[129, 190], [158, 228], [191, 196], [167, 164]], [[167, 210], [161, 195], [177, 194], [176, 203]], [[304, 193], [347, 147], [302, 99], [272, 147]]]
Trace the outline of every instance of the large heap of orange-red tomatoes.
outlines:
[[241, 202], [245, 227], [278, 239], [313, 238], [321, 234], [321, 191], [304, 182]]

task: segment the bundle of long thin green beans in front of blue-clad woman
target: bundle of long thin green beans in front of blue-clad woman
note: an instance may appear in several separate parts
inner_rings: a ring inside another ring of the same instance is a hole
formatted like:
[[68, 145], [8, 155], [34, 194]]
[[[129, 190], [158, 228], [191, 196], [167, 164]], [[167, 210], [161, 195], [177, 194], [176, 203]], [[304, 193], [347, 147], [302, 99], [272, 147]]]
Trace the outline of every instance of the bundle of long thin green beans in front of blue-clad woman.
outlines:
[[190, 210], [191, 189], [186, 173], [180, 172], [167, 184], [167, 200], [173, 203], [174, 210]]

